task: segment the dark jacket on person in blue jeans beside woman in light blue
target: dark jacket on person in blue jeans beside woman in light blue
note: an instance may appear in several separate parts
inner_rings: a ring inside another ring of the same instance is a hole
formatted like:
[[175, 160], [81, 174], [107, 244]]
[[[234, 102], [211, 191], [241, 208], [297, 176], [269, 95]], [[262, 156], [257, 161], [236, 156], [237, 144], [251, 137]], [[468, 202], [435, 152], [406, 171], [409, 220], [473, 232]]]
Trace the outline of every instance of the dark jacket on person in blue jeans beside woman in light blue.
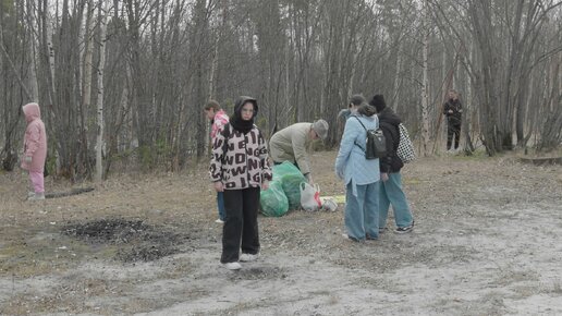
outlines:
[[395, 173], [404, 167], [404, 163], [396, 155], [400, 143], [399, 124], [402, 122], [391, 108], [384, 107], [379, 113], [379, 124], [387, 141], [388, 154], [380, 159], [380, 172]]

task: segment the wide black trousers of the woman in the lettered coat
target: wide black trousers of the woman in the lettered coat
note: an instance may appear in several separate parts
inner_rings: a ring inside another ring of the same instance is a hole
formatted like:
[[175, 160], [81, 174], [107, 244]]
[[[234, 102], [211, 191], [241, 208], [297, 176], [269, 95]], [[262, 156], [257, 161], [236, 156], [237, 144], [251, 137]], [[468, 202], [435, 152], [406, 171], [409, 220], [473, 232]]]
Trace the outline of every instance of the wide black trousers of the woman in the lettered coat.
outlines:
[[225, 219], [222, 227], [222, 264], [235, 263], [242, 253], [259, 253], [257, 215], [259, 187], [224, 190]]

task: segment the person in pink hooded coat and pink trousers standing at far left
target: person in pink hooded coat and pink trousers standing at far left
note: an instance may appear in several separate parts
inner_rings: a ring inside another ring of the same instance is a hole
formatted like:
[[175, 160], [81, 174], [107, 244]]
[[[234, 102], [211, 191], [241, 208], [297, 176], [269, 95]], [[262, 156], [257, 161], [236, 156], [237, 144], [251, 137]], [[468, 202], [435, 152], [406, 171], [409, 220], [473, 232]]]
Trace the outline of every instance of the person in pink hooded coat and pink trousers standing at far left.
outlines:
[[28, 200], [45, 199], [44, 169], [47, 158], [47, 134], [41, 121], [39, 105], [27, 104], [23, 106], [27, 129], [24, 136], [24, 154], [22, 169], [29, 172], [29, 180], [34, 192], [27, 195]]

